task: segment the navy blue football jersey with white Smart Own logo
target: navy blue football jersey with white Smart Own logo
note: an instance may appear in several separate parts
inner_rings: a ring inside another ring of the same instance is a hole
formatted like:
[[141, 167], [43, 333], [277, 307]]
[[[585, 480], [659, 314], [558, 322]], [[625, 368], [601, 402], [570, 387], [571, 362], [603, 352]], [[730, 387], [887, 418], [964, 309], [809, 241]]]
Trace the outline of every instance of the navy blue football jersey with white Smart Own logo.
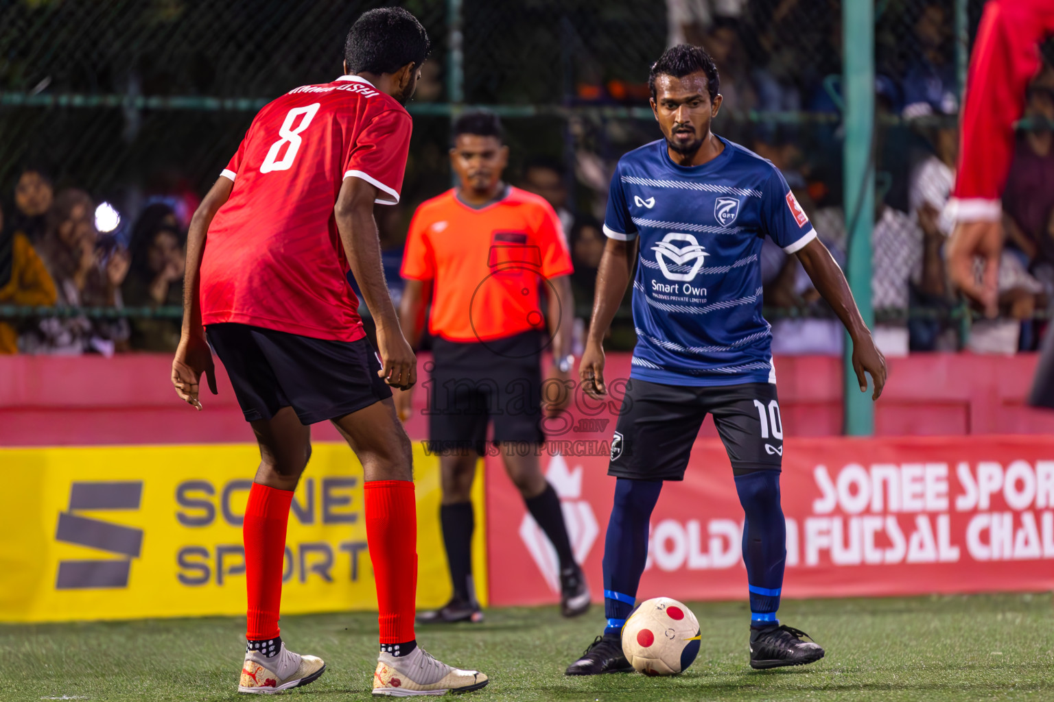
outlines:
[[681, 166], [660, 139], [619, 160], [604, 233], [640, 237], [631, 378], [667, 385], [776, 382], [761, 316], [764, 237], [793, 254], [816, 230], [779, 169], [739, 144]]

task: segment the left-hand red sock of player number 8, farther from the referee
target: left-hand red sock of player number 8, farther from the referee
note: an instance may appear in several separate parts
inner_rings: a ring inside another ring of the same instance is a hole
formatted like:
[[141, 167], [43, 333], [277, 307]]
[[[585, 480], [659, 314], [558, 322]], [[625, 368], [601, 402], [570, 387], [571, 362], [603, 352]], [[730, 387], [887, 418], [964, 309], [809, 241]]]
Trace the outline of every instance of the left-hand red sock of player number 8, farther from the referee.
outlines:
[[246, 638], [257, 641], [278, 636], [281, 570], [286, 558], [290, 490], [253, 483], [246, 505], [241, 536], [246, 544], [246, 585], [249, 617]]

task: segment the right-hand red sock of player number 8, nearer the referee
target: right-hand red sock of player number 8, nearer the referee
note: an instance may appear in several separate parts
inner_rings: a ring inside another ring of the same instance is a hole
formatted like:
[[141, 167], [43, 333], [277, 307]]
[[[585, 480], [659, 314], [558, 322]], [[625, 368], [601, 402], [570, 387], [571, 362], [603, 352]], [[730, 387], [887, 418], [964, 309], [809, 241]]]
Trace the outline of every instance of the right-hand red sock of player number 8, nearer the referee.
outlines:
[[377, 585], [380, 643], [413, 641], [417, 597], [417, 506], [408, 480], [371, 480], [366, 488], [366, 541]]

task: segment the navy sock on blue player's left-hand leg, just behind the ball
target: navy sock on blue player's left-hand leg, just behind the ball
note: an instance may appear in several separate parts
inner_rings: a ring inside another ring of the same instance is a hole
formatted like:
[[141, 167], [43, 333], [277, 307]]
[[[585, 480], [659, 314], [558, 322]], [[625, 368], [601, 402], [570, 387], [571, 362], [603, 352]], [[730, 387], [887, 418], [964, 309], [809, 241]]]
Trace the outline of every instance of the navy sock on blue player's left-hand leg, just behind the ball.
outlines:
[[661, 480], [614, 481], [614, 504], [604, 540], [605, 636], [618, 634], [633, 610], [637, 586], [648, 560], [648, 521], [660, 492]]

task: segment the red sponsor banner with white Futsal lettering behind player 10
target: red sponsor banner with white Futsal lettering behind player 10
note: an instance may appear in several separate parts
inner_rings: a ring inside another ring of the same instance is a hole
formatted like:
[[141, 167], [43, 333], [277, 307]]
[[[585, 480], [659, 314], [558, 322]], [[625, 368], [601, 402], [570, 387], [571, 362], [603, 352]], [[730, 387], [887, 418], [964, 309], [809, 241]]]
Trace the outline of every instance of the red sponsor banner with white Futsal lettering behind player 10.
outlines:
[[[552, 442], [541, 458], [598, 601], [614, 489], [607, 428]], [[784, 447], [784, 597], [1054, 587], [1054, 438], [792, 438]], [[491, 603], [558, 601], [551, 546], [501, 459], [488, 458], [487, 472]], [[724, 447], [698, 440], [684, 482], [666, 483], [651, 516], [639, 599], [745, 598], [742, 523]]]

